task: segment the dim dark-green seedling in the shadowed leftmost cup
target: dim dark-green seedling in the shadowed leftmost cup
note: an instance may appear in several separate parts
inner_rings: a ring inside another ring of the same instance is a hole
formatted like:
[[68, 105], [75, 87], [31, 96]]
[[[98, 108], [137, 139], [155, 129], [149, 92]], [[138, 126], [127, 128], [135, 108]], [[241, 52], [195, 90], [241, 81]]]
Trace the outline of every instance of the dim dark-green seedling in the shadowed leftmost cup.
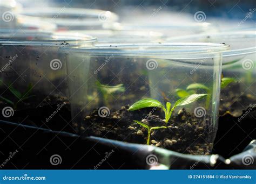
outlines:
[[17, 100], [16, 101], [12, 101], [12, 100], [9, 100], [8, 98], [5, 98], [3, 96], [0, 96], [0, 98], [2, 100], [4, 100], [5, 102], [11, 104], [14, 107], [14, 109], [17, 109], [18, 103], [21, 103], [24, 100], [27, 100], [28, 98], [31, 98], [33, 96], [36, 96], [36, 95], [30, 95], [31, 90], [32, 90], [32, 84], [31, 83], [29, 83], [29, 85], [26, 88], [26, 90], [24, 91], [24, 93], [21, 93], [20, 91], [15, 89], [12, 85], [10, 85], [8, 87], [8, 89], [17, 98]]

